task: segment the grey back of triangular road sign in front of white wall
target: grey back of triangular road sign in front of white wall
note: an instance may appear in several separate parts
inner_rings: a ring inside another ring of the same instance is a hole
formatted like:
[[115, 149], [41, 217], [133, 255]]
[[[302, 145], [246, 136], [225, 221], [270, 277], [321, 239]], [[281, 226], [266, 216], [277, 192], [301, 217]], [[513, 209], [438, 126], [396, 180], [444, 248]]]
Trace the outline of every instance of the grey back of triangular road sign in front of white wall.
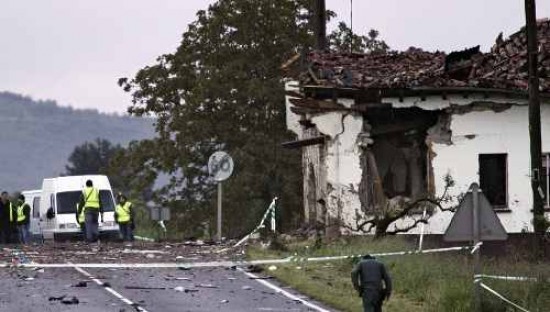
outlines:
[[[477, 203], [474, 202], [476, 197], [474, 192], [477, 192]], [[477, 216], [474, 206], [477, 206]], [[475, 221], [476, 219], [478, 222]], [[478, 223], [478, 239], [480, 241], [499, 241], [508, 238], [493, 206], [479, 190], [479, 186], [473, 183], [455, 212], [443, 240], [447, 242], [475, 241], [477, 233], [475, 233], [474, 224], [476, 223]]]

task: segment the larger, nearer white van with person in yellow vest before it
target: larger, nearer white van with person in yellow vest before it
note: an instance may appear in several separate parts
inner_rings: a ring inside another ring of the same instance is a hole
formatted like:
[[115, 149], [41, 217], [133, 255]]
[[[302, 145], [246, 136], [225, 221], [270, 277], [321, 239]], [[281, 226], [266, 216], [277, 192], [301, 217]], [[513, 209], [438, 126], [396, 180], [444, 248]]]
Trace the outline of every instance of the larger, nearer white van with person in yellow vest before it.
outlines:
[[44, 179], [42, 182], [40, 227], [44, 239], [58, 240], [81, 234], [76, 220], [76, 204], [87, 180], [91, 180], [99, 190], [99, 201], [103, 207], [103, 222], [99, 223], [100, 236], [118, 234], [115, 201], [109, 179], [104, 175], [68, 176]]

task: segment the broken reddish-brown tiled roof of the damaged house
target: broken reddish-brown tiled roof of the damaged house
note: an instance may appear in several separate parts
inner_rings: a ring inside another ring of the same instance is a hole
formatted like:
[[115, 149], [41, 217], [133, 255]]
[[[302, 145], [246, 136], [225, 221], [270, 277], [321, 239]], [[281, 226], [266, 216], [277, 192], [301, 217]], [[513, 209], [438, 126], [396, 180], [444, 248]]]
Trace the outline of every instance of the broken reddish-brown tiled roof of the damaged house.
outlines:
[[[550, 92], [550, 21], [538, 21], [540, 89]], [[524, 29], [507, 40], [502, 34], [491, 52], [479, 47], [446, 54], [409, 48], [384, 54], [312, 52], [304, 85], [364, 89], [476, 87], [527, 90], [527, 38]]]

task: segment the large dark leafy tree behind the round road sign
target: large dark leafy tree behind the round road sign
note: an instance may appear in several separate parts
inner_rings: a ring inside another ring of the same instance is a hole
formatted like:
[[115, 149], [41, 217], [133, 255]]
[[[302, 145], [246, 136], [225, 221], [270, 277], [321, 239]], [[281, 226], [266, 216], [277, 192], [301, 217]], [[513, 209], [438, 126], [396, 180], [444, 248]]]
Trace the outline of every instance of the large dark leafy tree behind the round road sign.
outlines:
[[225, 234], [249, 230], [276, 195], [286, 225], [298, 222], [300, 153], [281, 148], [292, 136], [280, 67], [311, 44], [308, 7], [308, 0], [218, 1], [197, 13], [175, 53], [119, 81], [133, 95], [130, 113], [157, 117], [155, 162], [172, 176], [162, 200], [177, 217], [215, 224], [206, 164], [223, 149], [236, 164], [224, 183]]

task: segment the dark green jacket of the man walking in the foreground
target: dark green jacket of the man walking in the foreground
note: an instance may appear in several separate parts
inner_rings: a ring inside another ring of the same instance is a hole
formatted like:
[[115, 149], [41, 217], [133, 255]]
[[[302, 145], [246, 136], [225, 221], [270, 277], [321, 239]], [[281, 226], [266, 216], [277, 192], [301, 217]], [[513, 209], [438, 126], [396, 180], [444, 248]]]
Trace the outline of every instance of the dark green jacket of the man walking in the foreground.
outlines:
[[353, 288], [365, 292], [383, 293], [389, 297], [392, 292], [392, 281], [383, 263], [370, 256], [365, 256], [351, 272]]

